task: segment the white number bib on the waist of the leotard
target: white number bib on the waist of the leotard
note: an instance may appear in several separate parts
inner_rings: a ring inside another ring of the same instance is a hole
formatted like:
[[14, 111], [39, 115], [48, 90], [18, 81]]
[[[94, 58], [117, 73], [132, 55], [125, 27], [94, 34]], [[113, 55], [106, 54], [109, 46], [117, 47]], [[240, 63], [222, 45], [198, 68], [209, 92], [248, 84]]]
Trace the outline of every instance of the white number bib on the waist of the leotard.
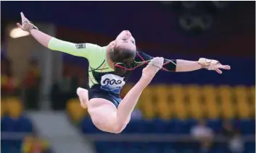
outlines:
[[119, 77], [114, 74], [106, 74], [102, 76], [101, 84], [101, 89], [114, 92], [115, 94], [120, 94], [120, 90], [125, 82], [123, 81], [123, 77]]

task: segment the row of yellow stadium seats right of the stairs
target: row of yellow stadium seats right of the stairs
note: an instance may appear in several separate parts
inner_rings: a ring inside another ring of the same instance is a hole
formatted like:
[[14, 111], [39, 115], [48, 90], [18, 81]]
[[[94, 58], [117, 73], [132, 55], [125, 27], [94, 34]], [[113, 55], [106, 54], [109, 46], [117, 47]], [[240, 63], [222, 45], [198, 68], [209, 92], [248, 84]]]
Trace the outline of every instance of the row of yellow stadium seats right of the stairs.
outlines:
[[[126, 85], [123, 92], [131, 87]], [[254, 118], [255, 87], [152, 85], [144, 90], [136, 107], [148, 119]], [[67, 112], [74, 121], [87, 115], [78, 99], [67, 102]]]

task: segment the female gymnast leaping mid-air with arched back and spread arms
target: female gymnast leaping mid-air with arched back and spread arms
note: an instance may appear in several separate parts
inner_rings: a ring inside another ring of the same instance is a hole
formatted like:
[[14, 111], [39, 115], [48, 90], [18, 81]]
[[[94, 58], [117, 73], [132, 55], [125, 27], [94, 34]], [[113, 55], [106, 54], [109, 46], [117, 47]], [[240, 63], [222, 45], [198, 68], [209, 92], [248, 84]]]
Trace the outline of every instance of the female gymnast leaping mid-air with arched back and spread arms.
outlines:
[[[78, 87], [77, 94], [81, 106], [88, 108], [91, 120], [97, 128], [114, 134], [120, 133], [127, 126], [141, 92], [160, 69], [164, 71], [207, 69], [217, 71], [219, 74], [222, 74], [220, 69], [231, 69], [228, 65], [207, 58], [199, 58], [199, 61], [153, 58], [146, 53], [136, 51], [135, 40], [128, 30], [120, 32], [115, 40], [102, 47], [91, 43], [69, 43], [53, 38], [38, 30], [22, 13], [21, 19], [22, 25], [17, 23], [17, 26], [30, 32], [33, 38], [46, 48], [87, 58], [90, 88], [87, 90]], [[139, 66], [145, 66], [139, 82], [121, 100], [120, 89], [131, 72]]]

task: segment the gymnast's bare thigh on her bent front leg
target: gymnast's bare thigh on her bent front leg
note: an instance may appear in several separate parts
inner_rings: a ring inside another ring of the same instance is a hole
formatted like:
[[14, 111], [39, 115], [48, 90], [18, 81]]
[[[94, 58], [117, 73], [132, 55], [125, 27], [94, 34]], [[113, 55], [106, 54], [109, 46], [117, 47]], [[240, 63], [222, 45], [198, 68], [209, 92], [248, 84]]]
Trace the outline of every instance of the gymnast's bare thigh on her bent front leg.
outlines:
[[88, 113], [94, 126], [102, 131], [115, 131], [117, 125], [117, 108], [109, 100], [94, 98], [88, 101]]

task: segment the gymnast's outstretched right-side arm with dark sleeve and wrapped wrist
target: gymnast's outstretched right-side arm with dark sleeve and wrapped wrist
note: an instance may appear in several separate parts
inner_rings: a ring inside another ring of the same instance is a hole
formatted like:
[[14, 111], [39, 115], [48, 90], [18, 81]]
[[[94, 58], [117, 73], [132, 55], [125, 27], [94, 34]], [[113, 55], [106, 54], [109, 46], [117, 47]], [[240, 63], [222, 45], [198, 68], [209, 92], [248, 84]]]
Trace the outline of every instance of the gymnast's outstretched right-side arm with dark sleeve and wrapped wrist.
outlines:
[[[136, 63], [139, 65], [142, 63], [147, 63], [152, 60], [152, 56], [147, 55], [143, 52], [138, 52], [136, 56]], [[216, 60], [209, 60], [206, 58], [200, 58], [199, 61], [186, 61], [182, 59], [165, 59], [162, 65], [162, 70], [165, 71], [195, 71], [198, 69], [208, 69], [215, 70], [219, 74], [222, 74], [220, 69], [231, 69], [228, 65], [222, 65]]]

